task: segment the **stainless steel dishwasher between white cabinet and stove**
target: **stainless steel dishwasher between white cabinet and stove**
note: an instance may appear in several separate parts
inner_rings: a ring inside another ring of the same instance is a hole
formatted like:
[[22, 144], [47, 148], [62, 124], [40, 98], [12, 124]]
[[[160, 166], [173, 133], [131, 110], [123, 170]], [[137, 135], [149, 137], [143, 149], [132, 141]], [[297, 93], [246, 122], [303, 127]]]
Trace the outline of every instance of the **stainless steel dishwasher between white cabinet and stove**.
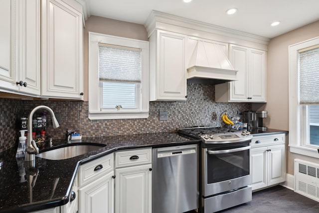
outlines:
[[153, 213], [198, 208], [198, 145], [153, 149]]

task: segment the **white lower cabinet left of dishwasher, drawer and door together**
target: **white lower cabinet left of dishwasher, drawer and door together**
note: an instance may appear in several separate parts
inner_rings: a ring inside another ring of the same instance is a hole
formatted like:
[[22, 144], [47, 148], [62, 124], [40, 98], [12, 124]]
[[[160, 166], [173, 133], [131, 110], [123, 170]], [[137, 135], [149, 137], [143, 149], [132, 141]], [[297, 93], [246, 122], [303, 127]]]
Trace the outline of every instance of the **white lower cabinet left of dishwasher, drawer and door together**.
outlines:
[[[152, 213], [152, 149], [115, 155], [115, 212]], [[139, 165], [141, 162], [143, 165]]]

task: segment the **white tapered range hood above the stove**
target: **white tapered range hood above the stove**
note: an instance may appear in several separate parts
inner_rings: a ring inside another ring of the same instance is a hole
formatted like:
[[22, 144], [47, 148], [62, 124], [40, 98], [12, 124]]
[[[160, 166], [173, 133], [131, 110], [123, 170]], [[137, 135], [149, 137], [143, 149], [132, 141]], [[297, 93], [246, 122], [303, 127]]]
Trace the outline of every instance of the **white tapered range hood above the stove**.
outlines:
[[219, 44], [198, 40], [187, 68], [187, 81], [220, 84], [237, 80], [236, 72]]

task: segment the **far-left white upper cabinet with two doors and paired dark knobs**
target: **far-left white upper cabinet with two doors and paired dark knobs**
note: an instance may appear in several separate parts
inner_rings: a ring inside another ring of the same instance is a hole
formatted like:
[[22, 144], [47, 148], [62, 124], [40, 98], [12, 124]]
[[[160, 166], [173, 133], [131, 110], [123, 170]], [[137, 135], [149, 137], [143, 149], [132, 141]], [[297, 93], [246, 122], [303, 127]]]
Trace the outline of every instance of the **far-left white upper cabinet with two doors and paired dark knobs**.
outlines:
[[40, 0], [4, 0], [0, 8], [0, 87], [40, 95]]

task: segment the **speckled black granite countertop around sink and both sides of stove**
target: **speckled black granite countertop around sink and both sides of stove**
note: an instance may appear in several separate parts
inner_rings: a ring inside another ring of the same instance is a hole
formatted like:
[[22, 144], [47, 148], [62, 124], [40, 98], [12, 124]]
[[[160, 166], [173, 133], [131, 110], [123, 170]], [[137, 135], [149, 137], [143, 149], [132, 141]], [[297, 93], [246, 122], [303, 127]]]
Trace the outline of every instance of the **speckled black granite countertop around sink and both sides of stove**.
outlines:
[[[256, 135], [271, 133], [287, 133], [287, 131], [251, 130], [251, 134]], [[79, 141], [74, 141], [76, 142]], [[67, 204], [79, 165], [114, 151], [179, 146], [196, 144], [200, 141], [169, 132], [83, 138], [81, 142], [101, 143], [106, 146], [65, 160], [54, 161], [36, 157], [35, 168], [29, 168], [24, 159], [15, 158], [16, 148], [0, 153], [0, 160], [3, 162], [0, 169], [0, 212], [27, 213]], [[65, 144], [64, 141], [53, 141], [54, 147], [63, 146], [63, 144]]]

